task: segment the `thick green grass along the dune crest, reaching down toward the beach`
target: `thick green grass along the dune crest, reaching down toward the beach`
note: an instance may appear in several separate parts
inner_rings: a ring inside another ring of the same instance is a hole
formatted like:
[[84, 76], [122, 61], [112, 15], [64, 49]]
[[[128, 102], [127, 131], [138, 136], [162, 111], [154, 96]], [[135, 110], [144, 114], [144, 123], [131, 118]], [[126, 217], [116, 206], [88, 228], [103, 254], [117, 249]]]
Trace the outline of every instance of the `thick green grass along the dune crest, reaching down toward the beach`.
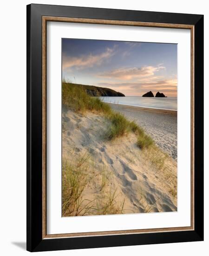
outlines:
[[91, 97], [82, 86], [76, 86], [76, 84], [64, 80], [62, 82], [62, 101], [64, 105], [76, 112], [85, 113], [90, 110], [103, 113], [104, 117], [111, 122], [105, 135], [108, 140], [114, 140], [132, 131], [137, 134], [139, 148], [148, 148], [154, 143], [150, 136], [144, 133], [143, 128], [134, 121], [127, 120], [124, 115], [113, 111], [98, 97]]

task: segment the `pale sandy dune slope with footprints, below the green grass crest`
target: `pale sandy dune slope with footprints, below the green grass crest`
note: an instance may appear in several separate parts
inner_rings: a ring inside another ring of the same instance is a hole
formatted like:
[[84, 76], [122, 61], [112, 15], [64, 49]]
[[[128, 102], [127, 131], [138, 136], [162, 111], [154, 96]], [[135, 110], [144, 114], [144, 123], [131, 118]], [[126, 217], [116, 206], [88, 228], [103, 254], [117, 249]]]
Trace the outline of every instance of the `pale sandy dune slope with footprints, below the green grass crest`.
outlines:
[[124, 202], [123, 213], [177, 210], [176, 161], [172, 158], [167, 157], [165, 167], [159, 170], [149, 152], [137, 148], [135, 134], [106, 141], [109, 123], [95, 113], [80, 115], [63, 108], [62, 124], [63, 159], [76, 165], [88, 156], [90, 179], [85, 199], [102, 204], [104, 195], [115, 192], [118, 206]]

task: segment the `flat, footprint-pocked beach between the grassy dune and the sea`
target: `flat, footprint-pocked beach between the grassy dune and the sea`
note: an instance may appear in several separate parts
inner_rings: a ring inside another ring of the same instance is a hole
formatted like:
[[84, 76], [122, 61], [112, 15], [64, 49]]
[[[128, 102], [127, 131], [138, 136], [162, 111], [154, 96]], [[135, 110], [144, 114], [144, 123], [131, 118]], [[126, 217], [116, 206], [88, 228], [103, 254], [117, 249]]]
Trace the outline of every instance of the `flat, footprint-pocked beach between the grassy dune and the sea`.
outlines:
[[109, 105], [143, 127], [159, 148], [177, 160], [177, 111]]

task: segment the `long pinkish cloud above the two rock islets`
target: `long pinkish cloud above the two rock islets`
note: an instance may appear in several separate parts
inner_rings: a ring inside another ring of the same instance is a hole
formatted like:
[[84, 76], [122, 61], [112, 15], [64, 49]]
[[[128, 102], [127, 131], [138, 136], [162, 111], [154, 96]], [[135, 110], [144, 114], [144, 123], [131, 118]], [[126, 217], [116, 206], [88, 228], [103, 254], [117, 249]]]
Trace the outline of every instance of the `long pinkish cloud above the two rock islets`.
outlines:
[[157, 67], [129, 67], [113, 69], [111, 71], [98, 74], [98, 77], [113, 78], [120, 80], [136, 80], [143, 77], [153, 76], [155, 72], [164, 69], [165, 67], [158, 65]]

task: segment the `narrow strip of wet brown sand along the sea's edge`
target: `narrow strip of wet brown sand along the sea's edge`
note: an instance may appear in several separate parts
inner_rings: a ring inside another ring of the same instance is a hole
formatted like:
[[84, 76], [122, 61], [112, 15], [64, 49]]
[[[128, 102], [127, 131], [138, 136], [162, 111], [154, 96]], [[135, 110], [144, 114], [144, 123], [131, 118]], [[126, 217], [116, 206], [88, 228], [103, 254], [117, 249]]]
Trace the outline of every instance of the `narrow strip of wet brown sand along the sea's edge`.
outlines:
[[161, 113], [161, 114], [170, 114], [170, 115], [176, 115], [177, 116], [177, 110], [174, 109], [166, 109], [166, 108], [150, 108], [150, 107], [141, 107], [141, 106], [134, 106], [134, 105], [127, 105], [127, 104], [119, 104], [119, 103], [112, 103], [112, 102], [105, 102], [110, 105], [119, 105], [119, 106], [124, 106], [125, 108], [132, 108], [132, 109], [140, 109], [140, 110], [145, 110], [145, 111], [150, 111], [150, 112], [155, 112], [155, 113]]

